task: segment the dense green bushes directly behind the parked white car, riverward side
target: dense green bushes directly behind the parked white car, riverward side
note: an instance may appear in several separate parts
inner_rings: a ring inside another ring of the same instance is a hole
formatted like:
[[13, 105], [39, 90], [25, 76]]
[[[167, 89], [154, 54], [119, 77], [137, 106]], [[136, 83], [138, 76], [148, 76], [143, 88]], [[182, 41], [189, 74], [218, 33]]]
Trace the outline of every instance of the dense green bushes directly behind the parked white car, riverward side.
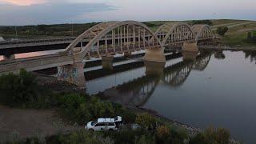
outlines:
[[62, 114], [71, 121], [84, 124], [97, 118], [122, 116], [126, 122], [134, 122], [135, 114], [121, 105], [102, 101], [86, 94], [62, 94], [56, 97]]

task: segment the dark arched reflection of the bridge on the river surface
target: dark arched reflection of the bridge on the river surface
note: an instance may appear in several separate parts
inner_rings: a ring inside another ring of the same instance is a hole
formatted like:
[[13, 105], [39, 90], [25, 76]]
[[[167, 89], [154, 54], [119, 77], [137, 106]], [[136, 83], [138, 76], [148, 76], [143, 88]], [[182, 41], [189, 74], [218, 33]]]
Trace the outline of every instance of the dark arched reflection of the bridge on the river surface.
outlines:
[[[143, 106], [150, 96], [154, 94], [154, 90], [159, 84], [170, 86], [172, 88], [182, 86], [189, 77], [191, 70], [206, 69], [212, 54], [213, 53], [211, 52], [202, 52], [195, 58], [195, 61], [182, 60], [181, 62], [175, 62], [170, 66], [162, 67], [162, 70], [158, 69], [160, 71], [159, 73], [146, 73], [146, 75], [143, 75], [140, 78], [135, 78], [130, 82], [104, 90], [100, 95], [126, 106]], [[146, 70], [154, 68], [155, 67], [146, 67]], [[155, 68], [155, 70], [157, 69]]]

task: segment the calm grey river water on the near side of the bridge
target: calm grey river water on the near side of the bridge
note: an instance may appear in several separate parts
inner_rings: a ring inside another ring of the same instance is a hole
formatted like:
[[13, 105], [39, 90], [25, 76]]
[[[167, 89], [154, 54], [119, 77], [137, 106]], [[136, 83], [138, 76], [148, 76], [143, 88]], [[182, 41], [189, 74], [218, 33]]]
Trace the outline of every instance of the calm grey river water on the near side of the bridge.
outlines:
[[[157, 76], [147, 75], [146, 67], [134, 62], [125, 70], [114, 67], [87, 81], [87, 92], [142, 106], [190, 126], [223, 127], [232, 138], [254, 143], [255, 55], [255, 51], [209, 51], [192, 62], [178, 56], [168, 60]], [[86, 72], [86, 78], [94, 72]]]

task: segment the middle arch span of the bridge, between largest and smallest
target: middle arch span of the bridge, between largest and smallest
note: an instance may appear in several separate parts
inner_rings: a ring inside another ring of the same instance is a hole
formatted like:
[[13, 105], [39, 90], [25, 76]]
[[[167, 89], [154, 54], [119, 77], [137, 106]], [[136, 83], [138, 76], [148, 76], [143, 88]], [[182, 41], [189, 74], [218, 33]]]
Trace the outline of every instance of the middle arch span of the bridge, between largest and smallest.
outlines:
[[158, 28], [156, 35], [164, 46], [182, 42], [196, 42], [194, 31], [183, 22], [167, 22]]

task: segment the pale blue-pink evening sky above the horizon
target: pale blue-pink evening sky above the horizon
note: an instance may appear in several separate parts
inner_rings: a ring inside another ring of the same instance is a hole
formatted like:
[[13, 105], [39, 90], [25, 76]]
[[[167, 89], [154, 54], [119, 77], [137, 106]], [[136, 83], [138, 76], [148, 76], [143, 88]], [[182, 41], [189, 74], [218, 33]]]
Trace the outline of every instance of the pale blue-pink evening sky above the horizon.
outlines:
[[191, 19], [256, 20], [256, 0], [0, 0], [0, 26]]

